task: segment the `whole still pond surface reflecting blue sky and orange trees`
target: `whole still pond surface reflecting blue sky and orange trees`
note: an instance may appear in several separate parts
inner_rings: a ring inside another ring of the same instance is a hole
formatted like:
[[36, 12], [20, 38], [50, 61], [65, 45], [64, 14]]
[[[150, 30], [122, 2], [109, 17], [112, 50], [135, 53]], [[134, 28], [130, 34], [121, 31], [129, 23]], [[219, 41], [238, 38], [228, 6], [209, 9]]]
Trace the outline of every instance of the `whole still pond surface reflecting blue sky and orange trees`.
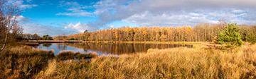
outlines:
[[127, 43], [44, 43], [33, 46], [43, 50], [54, 50], [57, 55], [60, 51], [74, 51], [80, 53], [102, 54], [134, 54], [146, 52], [148, 49], [167, 49], [174, 47], [188, 47], [191, 44], [127, 44]]

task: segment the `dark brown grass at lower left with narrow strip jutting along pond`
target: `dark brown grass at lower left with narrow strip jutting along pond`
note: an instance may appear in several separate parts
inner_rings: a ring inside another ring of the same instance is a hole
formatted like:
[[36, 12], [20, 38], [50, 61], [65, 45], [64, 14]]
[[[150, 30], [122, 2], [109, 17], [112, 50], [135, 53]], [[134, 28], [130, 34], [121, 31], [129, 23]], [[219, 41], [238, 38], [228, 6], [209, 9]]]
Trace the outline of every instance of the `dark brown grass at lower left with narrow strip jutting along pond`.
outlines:
[[36, 78], [38, 73], [48, 67], [49, 61], [87, 62], [87, 59], [95, 56], [95, 54], [80, 54], [71, 51], [62, 51], [54, 56], [53, 51], [43, 51], [28, 46], [11, 47], [0, 52], [0, 78]]

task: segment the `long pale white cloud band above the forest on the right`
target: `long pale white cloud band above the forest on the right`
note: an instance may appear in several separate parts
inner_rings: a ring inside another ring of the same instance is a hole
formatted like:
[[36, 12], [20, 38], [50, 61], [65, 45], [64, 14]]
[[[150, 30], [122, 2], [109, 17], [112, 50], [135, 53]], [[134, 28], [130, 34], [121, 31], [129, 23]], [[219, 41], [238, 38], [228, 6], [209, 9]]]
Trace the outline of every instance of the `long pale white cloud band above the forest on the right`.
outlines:
[[218, 23], [218, 20], [224, 19], [230, 23], [250, 24], [254, 20], [246, 20], [247, 13], [240, 9], [236, 11], [218, 10], [218, 11], [196, 11], [190, 13], [140, 13], [134, 14], [129, 18], [124, 18], [127, 23], [138, 25], [195, 25], [196, 23]]

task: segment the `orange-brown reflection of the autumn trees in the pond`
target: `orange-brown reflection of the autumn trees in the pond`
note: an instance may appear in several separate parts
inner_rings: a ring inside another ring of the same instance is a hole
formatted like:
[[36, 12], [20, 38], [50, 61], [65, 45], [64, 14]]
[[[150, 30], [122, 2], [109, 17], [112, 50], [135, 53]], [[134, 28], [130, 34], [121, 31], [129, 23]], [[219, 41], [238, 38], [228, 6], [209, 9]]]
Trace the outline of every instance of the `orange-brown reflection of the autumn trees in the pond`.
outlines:
[[132, 54], [137, 52], [146, 52], [148, 49], [166, 49], [174, 47], [188, 47], [191, 44], [124, 44], [124, 43], [74, 43], [68, 44], [72, 47], [82, 48], [87, 51], [102, 51], [107, 54]]

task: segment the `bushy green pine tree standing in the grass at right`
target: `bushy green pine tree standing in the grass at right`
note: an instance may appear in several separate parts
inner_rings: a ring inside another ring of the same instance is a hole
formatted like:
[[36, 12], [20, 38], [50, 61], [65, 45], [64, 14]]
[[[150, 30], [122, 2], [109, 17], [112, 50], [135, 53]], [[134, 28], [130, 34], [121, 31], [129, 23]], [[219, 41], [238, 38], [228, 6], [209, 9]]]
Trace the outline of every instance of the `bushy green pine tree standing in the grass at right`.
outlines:
[[239, 34], [239, 28], [236, 23], [229, 23], [225, 30], [221, 31], [217, 38], [218, 44], [227, 44], [232, 46], [241, 46], [242, 38]]

